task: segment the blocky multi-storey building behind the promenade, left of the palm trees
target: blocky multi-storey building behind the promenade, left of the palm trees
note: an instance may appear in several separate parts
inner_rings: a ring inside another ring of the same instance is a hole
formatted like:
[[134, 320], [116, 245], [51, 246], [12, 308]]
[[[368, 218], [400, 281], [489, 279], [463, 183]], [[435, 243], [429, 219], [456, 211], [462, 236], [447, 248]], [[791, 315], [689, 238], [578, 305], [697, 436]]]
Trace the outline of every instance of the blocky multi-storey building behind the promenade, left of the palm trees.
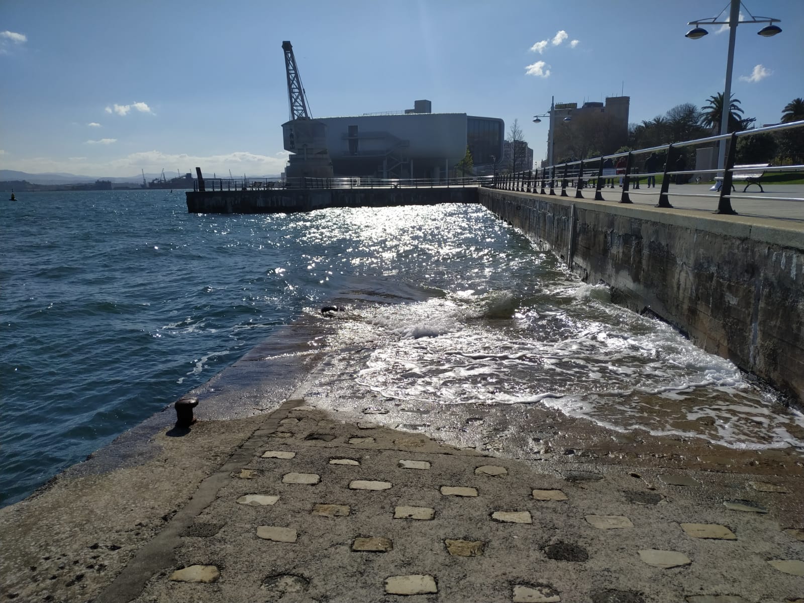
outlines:
[[554, 161], [610, 154], [624, 146], [628, 140], [629, 105], [630, 96], [607, 96], [605, 105], [587, 102], [580, 108], [577, 103], [556, 103], [551, 117], [556, 137]]

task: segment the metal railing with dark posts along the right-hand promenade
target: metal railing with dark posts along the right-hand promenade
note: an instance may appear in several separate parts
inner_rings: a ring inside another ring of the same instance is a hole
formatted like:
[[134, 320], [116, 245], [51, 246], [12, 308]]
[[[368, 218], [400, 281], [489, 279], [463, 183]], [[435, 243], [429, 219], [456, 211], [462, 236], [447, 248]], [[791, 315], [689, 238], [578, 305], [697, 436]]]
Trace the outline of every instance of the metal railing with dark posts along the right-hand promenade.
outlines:
[[[745, 174], [746, 169], [740, 166], [735, 166], [737, 155], [737, 140], [740, 137], [749, 137], [760, 133], [779, 132], [786, 129], [801, 129], [804, 135], [804, 121], [793, 121], [788, 124], [769, 125], [765, 128], [755, 128], [742, 130], [731, 134], [720, 134], [718, 136], [709, 136], [705, 138], [697, 138], [691, 141], [674, 142], [667, 145], [651, 146], [646, 149], [639, 149], [628, 151], [626, 153], [615, 153], [611, 155], [602, 155], [601, 157], [582, 159], [580, 161], [572, 161], [565, 163], [557, 163], [553, 166], [544, 166], [541, 170], [527, 170], [516, 172], [513, 174], [495, 174], [490, 184], [483, 186], [502, 189], [505, 191], [520, 191], [528, 193], [539, 193], [541, 195], [556, 195], [556, 189], [560, 190], [560, 196], [568, 197], [568, 188], [575, 189], [575, 199], [584, 199], [582, 191], [591, 185], [595, 188], [594, 199], [596, 201], [605, 201], [601, 193], [605, 182], [616, 178], [622, 179], [622, 192], [619, 203], [633, 203], [630, 199], [630, 194], [633, 193], [631, 189], [632, 183], [634, 189], [639, 188], [640, 178], [647, 178], [649, 176], [662, 177], [662, 188], [659, 191], [658, 203], [656, 207], [673, 206], [670, 203], [670, 197], [684, 196], [684, 197], [708, 197], [711, 199], [718, 199], [717, 214], [736, 214], [732, 207], [732, 199], [764, 199], [771, 201], [799, 201], [804, 202], [804, 198], [800, 197], [772, 197], [772, 196], [758, 196], [758, 195], [745, 195], [735, 194], [734, 177], [740, 177], [740, 174]], [[671, 166], [675, 166], [680, 152], [679, 149], [684, 146], [698, 146], [712, 142], [724, 141], [728, 144], [726, 165], [724, 170], [672, 170]], [[655, 153], [657, 151], [667, 151], [667, 160], [664, 164], [664, 169], [657, 172], [639, 173], [635, 156], [642, 154]], [[617, 160], [619, 158], [626, 158], [626, 164], [620, 169], [615, 168], [615, 173], [606, 173], [605, 162], [607, 160]], [[589, 169], [594, 166], [593, 169]], [[760, 168], [762, 172], [802, 172], [804, 165], [794, 166], [771, 166]], [[757, 171], [753, 169], [751, 171]], [[694, 194], [684, 192], [670, 192], [670, 183], [674, 177], [683, 176], [686, 174], [720, 174], [722, 177], [714, 178], [716, 182], [721, 182], [720, 191], [708, 194]], [[558, 185], [556, 183], [559, 183]], [[612, 184], [613, 186], [613, 184]]]

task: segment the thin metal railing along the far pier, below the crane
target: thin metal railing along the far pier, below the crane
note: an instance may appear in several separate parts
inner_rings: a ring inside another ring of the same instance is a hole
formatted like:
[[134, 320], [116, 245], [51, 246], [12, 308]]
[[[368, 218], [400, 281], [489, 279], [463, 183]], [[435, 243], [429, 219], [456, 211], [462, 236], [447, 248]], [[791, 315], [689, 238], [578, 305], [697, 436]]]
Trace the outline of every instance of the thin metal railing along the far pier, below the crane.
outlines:
[[273, 191], [277, 189], [343, 188], [464, 188], [492, 185], [494, 176], [464, 178], [203, 178], [195, 180], [194, 191]]

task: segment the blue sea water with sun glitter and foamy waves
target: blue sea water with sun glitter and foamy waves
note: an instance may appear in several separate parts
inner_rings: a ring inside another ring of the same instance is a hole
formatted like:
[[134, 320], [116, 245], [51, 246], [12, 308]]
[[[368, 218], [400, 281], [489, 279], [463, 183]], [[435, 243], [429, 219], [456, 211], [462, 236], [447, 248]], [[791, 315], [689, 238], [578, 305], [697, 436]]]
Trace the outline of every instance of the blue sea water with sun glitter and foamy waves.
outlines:
[[349, 318], [330, 351], [371, 334], [355, 379], [388, 399], [804, 446], [776, 392], [614, 306], [480, 206], [196, 215], [183, 191], [2, 203], [0, 504], [330, 304]]

